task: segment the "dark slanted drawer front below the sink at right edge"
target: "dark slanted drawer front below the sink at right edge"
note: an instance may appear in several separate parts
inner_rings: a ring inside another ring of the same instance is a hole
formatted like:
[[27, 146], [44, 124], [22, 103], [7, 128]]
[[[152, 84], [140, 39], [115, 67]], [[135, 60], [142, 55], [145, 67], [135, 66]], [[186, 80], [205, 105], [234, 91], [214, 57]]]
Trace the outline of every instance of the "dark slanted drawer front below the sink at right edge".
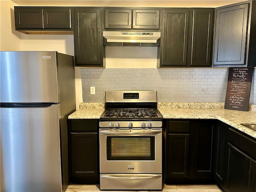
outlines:
[[254, 159], [256, 158], [256, 141], [243, 135], [238, 130], [228, 129], [228, 141], [239, 147]]

